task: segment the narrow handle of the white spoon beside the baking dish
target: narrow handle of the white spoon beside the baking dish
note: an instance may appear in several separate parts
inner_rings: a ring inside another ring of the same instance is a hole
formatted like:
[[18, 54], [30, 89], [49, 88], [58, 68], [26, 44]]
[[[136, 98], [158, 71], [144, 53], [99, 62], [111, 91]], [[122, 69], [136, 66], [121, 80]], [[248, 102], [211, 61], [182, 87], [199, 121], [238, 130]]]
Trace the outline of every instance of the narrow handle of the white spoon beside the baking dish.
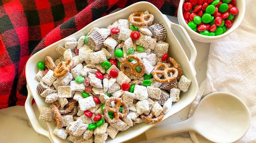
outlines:
[[153, 127], [153, 129], [146, 131], [145, 134], [147, 139], [152, 139], [159, 136], [187, 131], [193, 131], [193, 122], [191, 118], [174, 124]]

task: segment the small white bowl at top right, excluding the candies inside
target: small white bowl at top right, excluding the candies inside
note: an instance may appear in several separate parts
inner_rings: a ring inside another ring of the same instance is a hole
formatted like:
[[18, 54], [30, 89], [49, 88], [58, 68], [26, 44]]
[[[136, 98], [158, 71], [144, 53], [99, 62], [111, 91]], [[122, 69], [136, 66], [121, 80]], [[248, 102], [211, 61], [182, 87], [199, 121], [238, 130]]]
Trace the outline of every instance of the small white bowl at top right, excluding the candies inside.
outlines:
[[226, 32], [218, 35], [218, 36], [205, 36], [205, 35], [201, 35], [195, 31], [193, 31], [185, 22], [184, 17], [183, 17], [183, 3], [185, 2], [185, 0], [181, 0], [180, 4], [179, 4], [179, 8], [178, 8], [178, 21], [179, 24], [182, 25], [187, 33], [189, 34], [190, 38], [200, 41], [200, 42], [205, 42], [205, 43], [210, 43], [210, 42], [214, 42], [216, 40], [220, 40], [224, 37], [226, 37], [227, 35], [229, 35], [230, 33], [232, 33], [242, 22], [242, 20], [244, 19], [245, 16], [245, 0], [236, 0], [236, 5], [235, 7], [238, 8], [239, 13], [237, 15], [235, 15], [234, 17], [234, 22], [232, 23], [232, 27], [231, 28], [227, 28]]

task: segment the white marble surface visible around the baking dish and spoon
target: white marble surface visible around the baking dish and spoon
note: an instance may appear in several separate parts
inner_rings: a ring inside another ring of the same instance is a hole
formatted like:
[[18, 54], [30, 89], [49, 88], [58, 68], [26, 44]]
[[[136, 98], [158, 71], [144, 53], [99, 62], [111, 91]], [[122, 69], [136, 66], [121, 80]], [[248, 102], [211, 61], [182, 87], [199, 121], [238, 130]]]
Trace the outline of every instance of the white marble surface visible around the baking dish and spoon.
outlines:
[[[172, 22], [178, 23], [176, 17], [168, 17]], [[174, 31], [174, 34], [180, 40], [181, 46], [183, 47], [186, 54], [188, 54], [188, 58], [190, 58], [190, 52], [184, 42], [182, 42], [181, 37], [177, 32]], [[209, 43], [202, 43], [193, 40], [196, 49], [197, 49], [197, 59], [195, 62], [195, 69], [197, 72], [197, 80], [199, 85], [206, 77], [206, 70], [207, 70], [207, 60], [208, 60], [208, 53], [209, 53]], [[40, 113], [37, 109], [36, 104], [32, 105], [35, 114], [39, 117]], [[170, 117], [169, 119], [163, 121], [159, 124], [159, 126], [168, 124], [168, 123], [175, 123], [182, 120], [187, 119], [188, 112], [190, 106], [183, 109], [181, 112], [175, 114], [174, 116]], [[44, 121], [39, 121], [42, 127], [46, 129]], [[142, 138], [142, 137], [141, 137]], [[145, 138], [145, 137], [144, 137]], [[141, 140], [138, 140], [141, 141]], [[24, 106], [15, 106], [10, 107], [7, 109], [0, 110], [0, 142], [2, 143], [50, 143], [47, 137], [43, 135], [37, 134], [27, 117], [25, 112]], [[154, 139], [141, 141], [140, 143], [193, 143], [190, 139], [188, 132], [173, 134], [173, 135], [166, 135], [162, 137], [157, 137]]]

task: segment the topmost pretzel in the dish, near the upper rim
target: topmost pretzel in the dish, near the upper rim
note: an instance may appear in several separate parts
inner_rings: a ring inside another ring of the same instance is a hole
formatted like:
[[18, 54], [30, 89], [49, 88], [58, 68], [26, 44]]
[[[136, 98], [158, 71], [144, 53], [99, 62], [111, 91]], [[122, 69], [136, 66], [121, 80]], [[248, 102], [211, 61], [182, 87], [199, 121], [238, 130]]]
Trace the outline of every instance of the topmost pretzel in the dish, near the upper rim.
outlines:
[[153, 20], [154, 16], [152, 14], [143, 14], [143, 12], [140, 11], [132, 13], [128, 18], [131, 24], [138, 27], [152, 24]]

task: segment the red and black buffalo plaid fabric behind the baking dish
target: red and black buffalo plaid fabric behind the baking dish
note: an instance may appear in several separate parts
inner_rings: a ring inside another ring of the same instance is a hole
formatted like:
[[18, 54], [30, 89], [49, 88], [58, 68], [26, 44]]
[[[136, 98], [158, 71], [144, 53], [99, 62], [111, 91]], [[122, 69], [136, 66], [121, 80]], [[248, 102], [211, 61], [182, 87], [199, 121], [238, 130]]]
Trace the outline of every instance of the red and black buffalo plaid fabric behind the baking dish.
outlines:
[[[31, 55], [92, 21], [140, 0], [0, 0], [0, 109], [24, 105]], [[180, 0], [148, 0], [177, 16]]]

